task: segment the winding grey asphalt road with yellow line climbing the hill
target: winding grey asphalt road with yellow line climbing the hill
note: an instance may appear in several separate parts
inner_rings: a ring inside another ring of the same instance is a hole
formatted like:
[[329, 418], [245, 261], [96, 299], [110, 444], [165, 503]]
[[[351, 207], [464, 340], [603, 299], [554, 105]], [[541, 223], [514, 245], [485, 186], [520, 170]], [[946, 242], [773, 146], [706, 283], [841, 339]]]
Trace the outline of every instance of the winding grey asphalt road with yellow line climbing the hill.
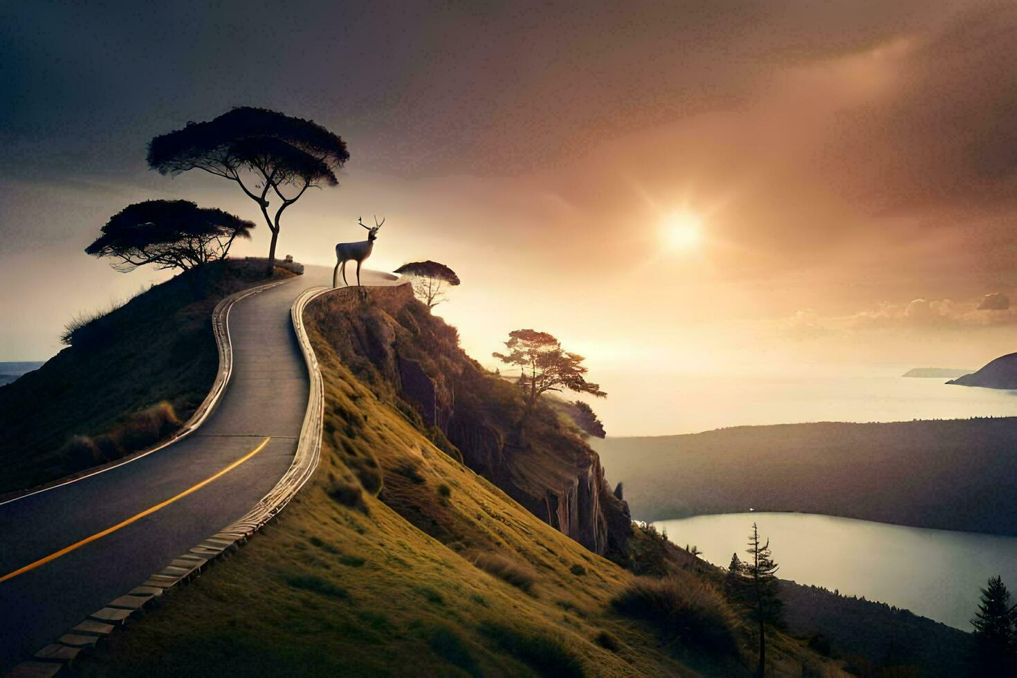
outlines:
[[[364, 270], [363, 282], [398, 281]], [[0, 672], [243, 516], [286, 474], [309, 389], [290, 308], [331, 283], [332, 269], [308, 266], [232, 307], [232, 375], [189, 436], [0, 504]]]

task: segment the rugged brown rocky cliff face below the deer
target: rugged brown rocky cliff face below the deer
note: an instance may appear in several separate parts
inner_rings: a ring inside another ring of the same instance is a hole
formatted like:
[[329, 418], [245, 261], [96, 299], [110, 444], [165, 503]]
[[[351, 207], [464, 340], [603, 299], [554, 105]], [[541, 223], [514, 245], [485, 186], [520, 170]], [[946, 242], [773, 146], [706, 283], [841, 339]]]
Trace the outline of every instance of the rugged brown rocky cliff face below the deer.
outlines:
[[322, 298], [308, 312], [357, 377], [439, 447], [588, 549], [624, 553], [629, 506], [578, 429], [544, 406], [521, 441], [517, 387], [470, 359], [410, 286]]

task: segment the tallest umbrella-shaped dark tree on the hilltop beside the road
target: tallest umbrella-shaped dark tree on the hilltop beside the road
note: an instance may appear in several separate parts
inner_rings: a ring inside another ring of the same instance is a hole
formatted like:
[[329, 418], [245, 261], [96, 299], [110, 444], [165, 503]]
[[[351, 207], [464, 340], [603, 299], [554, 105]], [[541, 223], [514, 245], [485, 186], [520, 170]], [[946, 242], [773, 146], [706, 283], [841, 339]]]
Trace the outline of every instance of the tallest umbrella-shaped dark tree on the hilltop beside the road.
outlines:
[[[349, 159], [346, 142], [321, 125], [244, 106], [155, 137], [148, 143], [147, 160], [148, 167], [160, 174], [203, 170], [237, 182], [258, 204], [272, 231], [272, 275], [283, 212], [308, 188], [338, 185], [336, 170]], [[270, 215], [274, 201], [278, 206]]]

